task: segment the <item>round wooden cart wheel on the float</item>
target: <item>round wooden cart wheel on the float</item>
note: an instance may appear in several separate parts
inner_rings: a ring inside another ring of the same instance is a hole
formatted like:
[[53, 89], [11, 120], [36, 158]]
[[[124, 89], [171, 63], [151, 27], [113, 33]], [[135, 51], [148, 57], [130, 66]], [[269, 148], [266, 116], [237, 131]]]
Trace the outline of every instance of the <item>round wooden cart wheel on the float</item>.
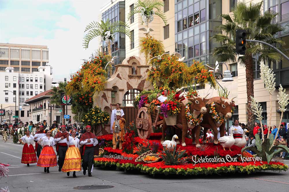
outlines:
[[136, 128], [138, 136], [142, 139], [148, 139], [151, 134], [151, 115], [147, 114], [147, 107], [142, 107], [138, 110], [136, 118]]

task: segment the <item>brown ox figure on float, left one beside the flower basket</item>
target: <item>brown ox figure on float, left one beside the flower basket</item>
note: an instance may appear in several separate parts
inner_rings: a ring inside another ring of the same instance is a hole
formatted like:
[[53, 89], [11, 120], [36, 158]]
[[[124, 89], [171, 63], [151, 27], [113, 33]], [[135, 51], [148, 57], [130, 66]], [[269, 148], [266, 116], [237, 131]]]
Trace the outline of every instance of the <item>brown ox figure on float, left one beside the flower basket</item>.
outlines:
[[[185, 108], [186, 104], [191, 102], [190, 113], [192, 114], [193, 118], [197, 118], [200, 113], [207, 112], [207, 108], [206, 108], [206, 101], [208, 100], [206, 99], [207, 96], [205, 97], [193, 96], [192, 98], [188, 98], [182, 101], [180, 113], [177, 115], [177, 127], [182, 129], [182, 146], [186, 146], [185, 137], [187, 135], [188, 128], [193, 129], [195, 127], [195, 125], [190, 124], [186, 118], [186, 108]], [[161, 143], [164, 142], [166, 128], [167, 128], [167, 125], [166, 125], [166, 121], [164, 120], [162, 124]]]

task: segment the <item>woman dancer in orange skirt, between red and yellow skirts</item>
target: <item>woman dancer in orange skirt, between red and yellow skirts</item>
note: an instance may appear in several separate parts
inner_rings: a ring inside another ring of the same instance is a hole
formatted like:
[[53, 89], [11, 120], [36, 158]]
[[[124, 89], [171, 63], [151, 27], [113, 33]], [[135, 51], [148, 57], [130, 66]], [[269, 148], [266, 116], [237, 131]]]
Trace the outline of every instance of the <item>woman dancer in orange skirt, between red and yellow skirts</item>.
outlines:
[[57, 165], [56, 155], [52, 146], [55, 145], [54, 138], [50, 136], [51, 131], [45, 130], [46, 136], [42, 137], [38, 142], [38, 145], [43, 147], [38, 161], [37, 166], [44, 167], [44, 172], [49, 173], [49, 167]]

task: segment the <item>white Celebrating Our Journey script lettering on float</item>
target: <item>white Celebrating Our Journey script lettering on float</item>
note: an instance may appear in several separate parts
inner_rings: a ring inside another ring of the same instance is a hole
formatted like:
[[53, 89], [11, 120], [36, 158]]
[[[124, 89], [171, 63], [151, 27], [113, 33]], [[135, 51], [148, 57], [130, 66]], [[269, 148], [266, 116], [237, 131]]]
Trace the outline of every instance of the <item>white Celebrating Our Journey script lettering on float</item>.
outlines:
[[[254, 164], [256, 164], [256, 161], [260, 161], [261, 164], [262, 163], [262, 157], [243, 157], [242, 154], [237, 154], [238, 156], [241, 157], [242, 163], [244, 162], [249, 162], [249, 161], [254, 161]], [[197, 155], [193, 155], [192, 156], [192, 161], [194, 162], [194, 165], [196, 165], [196, 163], [225, 163], [226, 162], [241, 162], [239, 161], [238, 157], [231, 157], [231, 155], [226, 155], [225, 158], [224, 157], [197, 157]]]

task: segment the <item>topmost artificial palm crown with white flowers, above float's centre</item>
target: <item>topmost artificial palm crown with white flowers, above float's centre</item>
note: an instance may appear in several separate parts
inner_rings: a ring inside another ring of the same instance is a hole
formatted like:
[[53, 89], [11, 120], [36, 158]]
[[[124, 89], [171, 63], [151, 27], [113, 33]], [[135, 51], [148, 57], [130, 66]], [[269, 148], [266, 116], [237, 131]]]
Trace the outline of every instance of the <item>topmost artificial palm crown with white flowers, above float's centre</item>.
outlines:
[[[164, 3], [158, 0], [144, 0], [136, 2], [134, 9], [128, 14], [127, 18], [130, 19], [134, 14], [140, 13], [142, 16], [142, 24], [144, 23], [148, 28], [149, 23], [153, 21], [153, 15], [159, 16], [166, 24], [166, 15], [162, 12], [160, 7], [163, 7]], [[154, 11], [154, 9], [157, 9]]]

